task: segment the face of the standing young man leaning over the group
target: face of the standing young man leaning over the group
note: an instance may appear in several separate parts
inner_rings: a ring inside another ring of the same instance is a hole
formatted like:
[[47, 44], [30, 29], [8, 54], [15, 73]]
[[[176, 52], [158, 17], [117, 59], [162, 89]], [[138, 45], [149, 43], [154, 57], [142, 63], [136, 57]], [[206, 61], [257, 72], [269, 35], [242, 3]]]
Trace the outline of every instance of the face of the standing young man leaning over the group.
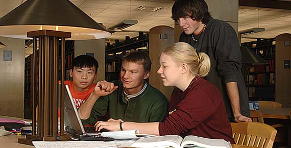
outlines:
[[180, 17], [178, 23], [187, 35], [198, 34], [204, 26], [201, 21], [193, 20], [189, 16]]

